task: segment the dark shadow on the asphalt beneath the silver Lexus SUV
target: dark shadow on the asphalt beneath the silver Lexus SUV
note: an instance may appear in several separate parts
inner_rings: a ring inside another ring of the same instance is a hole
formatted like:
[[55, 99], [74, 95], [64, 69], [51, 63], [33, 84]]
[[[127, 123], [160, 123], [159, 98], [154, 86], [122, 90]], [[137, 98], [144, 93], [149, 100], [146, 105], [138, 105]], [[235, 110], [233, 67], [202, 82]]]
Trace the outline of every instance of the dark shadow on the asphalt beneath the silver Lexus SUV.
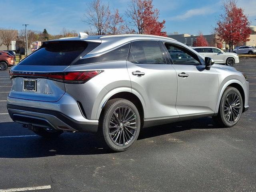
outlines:
[[[200, 118], [197, 120], [144, 128], [141, 130], [138, 140], [189, 129], [218, 128], [212, 125], [212, 123], [212, 118]], [[8, 132], [10, 134], [8, 134], [8, 136], [14, 135], [14, 133], [11, 132], [13, 127], [15, 127], [16, 131], [21, 129], [21, 131], [16, 133], [16, 136], [34, 135], [32, 131], [25, 131], [25, 128], [22, 128], [20, 124], [14, 122], [0, 123], [0, 127], [10, 128], [10, 132]], [[36, 158], [56, 155], [112, 153], [110, 150], [103, 148], [96, 134], [92, 133], [64, 133], [56, 139], [45, 139], [40, 136], [5, 136], [6, 135], [0, 134], [0, 158]]]

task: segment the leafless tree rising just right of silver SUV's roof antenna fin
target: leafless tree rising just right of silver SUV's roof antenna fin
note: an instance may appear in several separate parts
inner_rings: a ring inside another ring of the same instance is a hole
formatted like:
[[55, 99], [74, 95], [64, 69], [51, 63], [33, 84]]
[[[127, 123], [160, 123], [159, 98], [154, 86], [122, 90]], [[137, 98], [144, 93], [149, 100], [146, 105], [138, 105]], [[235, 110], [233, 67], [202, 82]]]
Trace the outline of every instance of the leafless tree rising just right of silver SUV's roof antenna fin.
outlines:
[[106, 32], [109, 24], [110, 10], [108, 4], [102, 3], [102, 0], [92, 0], [88, 3], [88, 9], [82, 18], [82, 22], [96, 28], [98, 35]]

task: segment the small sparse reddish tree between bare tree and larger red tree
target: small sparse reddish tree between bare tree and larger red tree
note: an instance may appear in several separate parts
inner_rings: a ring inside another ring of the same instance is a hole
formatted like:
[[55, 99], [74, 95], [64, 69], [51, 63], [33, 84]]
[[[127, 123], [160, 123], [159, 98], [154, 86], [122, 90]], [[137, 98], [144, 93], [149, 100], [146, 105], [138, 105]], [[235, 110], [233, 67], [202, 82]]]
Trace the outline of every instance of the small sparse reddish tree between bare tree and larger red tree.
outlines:
[[114, 10], [114, 13], [110, 15], [107, 33], [110, 35], [122, 34], [125, 29], [124, 20], [120, 16], [118, 9]]

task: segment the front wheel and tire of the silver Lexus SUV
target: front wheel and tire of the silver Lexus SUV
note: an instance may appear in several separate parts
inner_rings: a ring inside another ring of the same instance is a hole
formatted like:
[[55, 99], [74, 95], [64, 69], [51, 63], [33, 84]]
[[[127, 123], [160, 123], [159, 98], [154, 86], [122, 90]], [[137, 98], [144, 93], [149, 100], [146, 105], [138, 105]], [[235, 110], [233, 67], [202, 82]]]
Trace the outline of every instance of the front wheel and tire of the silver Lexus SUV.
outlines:
[[223, 92], [218, 115], [213, 120], [223, 127], [235, 126], [242, 115], [243, 100], [240, 92], [234, 87], [227, 87]]

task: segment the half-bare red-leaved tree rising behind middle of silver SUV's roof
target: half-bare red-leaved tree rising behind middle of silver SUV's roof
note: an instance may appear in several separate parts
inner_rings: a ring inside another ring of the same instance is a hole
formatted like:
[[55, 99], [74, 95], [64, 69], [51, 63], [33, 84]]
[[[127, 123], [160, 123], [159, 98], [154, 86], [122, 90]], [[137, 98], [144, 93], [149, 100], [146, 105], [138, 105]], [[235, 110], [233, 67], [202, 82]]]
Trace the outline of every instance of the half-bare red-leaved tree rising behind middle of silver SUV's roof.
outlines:
[[165, 20], [159, 22], [159, 10], [154, 9], [152, 0], [131, 0], [126, 11], [129, 24], [137, 29], [138, 34], [166, 36], [162, 32]]

